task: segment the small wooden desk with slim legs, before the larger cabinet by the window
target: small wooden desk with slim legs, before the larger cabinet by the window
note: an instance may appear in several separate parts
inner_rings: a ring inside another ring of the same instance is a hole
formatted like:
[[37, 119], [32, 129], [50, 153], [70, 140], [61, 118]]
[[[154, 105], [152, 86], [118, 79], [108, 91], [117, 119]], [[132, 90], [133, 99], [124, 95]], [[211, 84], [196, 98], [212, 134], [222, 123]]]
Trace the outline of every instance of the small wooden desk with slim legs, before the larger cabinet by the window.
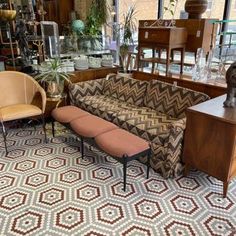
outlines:
[[[172, 49], [181, 52], [180, 73], [183, 73], [185, 43], [187, 41], [187, 30], [177, 27], [139, 27], [138, 35], [138, 67], [140, 62], [151, 62], [154, 68], [155, 63], [166, 64], [166, 75], [170, 66], [170, 55]], [[143, 48], [151, 48], [152, 58], [141, 57]], [[156, 50], [166, 50], [166, 60], [155, 57]]]

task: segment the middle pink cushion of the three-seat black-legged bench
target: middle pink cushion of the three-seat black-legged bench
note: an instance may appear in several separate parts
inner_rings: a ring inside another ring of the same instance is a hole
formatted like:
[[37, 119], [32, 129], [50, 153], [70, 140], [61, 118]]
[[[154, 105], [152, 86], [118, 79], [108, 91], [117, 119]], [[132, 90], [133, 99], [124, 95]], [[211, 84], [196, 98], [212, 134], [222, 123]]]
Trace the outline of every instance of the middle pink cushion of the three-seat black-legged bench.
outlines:
[[75, 119], [70, 122], [70, 126], [74, 132], [87, 138], [94, 138], [104, 132], [118, 129], [113, 123], [94, 115]]

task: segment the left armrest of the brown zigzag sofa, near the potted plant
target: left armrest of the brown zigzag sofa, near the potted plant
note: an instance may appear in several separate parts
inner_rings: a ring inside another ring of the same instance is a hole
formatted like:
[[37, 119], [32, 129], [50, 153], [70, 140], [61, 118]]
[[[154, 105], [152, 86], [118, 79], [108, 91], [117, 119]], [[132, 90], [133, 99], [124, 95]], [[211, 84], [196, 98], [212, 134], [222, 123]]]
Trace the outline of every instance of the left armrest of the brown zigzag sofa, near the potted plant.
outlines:
[[102, 95], [105, 80], [102, 78], [70, 84], [68, 86], [70, 103], [75, 105], [80, 97]]

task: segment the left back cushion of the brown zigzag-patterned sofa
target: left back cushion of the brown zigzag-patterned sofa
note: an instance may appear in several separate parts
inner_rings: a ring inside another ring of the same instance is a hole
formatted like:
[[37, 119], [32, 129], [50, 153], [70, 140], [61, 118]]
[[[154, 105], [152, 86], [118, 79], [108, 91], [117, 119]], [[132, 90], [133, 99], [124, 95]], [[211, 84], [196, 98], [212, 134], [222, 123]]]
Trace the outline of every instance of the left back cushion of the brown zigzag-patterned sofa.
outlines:
[[105, 82], [103, 94], [129, 104], [142, 106], [144, 103], [147, 85], [148, 83], [146, 81], [112, 74]]

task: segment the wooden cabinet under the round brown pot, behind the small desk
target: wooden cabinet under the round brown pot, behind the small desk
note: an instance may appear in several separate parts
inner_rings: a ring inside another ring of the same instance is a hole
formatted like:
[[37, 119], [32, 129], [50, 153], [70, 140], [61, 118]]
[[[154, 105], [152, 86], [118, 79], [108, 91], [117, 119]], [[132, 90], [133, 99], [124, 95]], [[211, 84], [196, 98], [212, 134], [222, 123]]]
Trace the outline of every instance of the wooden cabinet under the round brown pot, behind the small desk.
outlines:
[[[206, 53], [214, 47], [217, 34], [217, 25], [212, 24], [214, 19], [176, 19], [175, 26], [187, 29], [186, 52], [197, 52], [198, 48], [203, 48]], [[150, 26], [156, 20], [140, 20], [139, 26]], [[155, 24], [154, 24], [155, 26]]]

